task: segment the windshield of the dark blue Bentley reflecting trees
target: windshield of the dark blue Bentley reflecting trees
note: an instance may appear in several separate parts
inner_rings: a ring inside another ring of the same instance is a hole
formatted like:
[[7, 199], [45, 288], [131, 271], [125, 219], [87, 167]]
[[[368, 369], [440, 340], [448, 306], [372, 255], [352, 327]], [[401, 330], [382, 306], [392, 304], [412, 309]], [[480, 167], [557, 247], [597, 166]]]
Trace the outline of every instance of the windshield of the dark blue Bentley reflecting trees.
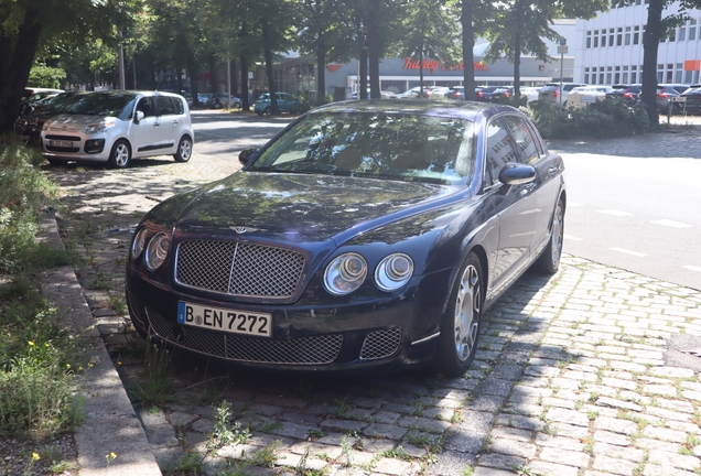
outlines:
[[466, 183], [473, 122], [405, 113], [315, 113], [284, 133], [248, 171]]

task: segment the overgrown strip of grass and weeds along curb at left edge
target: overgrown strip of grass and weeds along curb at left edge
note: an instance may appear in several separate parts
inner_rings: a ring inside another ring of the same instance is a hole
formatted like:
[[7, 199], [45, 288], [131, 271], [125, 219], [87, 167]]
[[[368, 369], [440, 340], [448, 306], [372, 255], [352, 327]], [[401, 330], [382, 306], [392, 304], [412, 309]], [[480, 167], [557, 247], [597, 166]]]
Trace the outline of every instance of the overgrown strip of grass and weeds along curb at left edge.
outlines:
[[0, 434], [36, 441], [82, 421], [75, 375], [87, 347], [41, 291], [39, 271], [68, 263], [65, 252], [36, 240], [40, 210], [57, 197], [34, 167], [42, 161], [21, 144], [0, 145]]

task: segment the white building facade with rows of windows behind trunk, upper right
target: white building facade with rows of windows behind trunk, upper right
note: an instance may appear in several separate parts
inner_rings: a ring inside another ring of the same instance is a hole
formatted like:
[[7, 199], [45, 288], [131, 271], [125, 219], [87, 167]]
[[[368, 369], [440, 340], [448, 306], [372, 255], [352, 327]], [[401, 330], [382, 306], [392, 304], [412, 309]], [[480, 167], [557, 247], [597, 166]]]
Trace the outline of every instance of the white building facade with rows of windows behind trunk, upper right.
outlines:
[[[578, 20], [574, 80], [586, 84], [640, 84], [643, 79], [643, 32], [647, 1], [612, 8], [593, 20]], [[662, 18], [679, 12], [672, 3]], [[701, 69], [701, 11], [688, 10], [681, 26], [660, 42], [657, 52], [659, 84], [699, 83]]]

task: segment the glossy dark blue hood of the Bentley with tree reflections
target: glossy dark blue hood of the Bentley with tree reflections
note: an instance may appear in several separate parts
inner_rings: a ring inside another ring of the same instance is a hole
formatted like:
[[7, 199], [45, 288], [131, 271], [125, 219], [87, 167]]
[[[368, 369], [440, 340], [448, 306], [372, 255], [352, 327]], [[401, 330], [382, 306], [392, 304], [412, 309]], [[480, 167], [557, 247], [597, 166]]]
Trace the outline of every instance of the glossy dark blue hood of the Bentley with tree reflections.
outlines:
[[240, 234], [290, 245], [334, 240], [453, 202], [465, 186], [238, 172], [202, 188], [176, 219], [183, 234]]

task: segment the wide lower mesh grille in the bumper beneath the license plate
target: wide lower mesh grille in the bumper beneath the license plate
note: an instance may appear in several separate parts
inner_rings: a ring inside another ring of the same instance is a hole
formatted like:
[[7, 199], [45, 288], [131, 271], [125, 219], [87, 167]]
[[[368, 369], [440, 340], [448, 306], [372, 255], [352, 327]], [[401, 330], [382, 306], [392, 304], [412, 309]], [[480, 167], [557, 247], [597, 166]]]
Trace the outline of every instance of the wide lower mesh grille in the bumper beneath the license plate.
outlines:
[[331, 334], [289, 340], [239, 336], [223, 332], [182, 326], [182, 335], [173, 332], [176, 324], [147, 309], [151, 332], [164, 340], [201, 354], [230, 360], [319, 365], [333, 363], [343, 346], [343, 335]]

